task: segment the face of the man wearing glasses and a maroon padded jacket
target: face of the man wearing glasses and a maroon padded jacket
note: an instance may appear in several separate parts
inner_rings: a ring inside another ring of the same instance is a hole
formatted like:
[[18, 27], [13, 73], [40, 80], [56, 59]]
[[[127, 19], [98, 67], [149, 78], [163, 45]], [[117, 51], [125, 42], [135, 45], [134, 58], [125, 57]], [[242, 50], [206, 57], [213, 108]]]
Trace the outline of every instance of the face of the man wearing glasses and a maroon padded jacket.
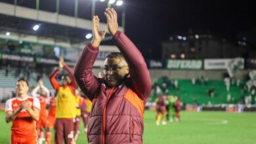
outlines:
[[123, 58], [106, 58], [104, 62], [104, 79], [108, 86], [118, 86], [129, 73], [127, 62]]

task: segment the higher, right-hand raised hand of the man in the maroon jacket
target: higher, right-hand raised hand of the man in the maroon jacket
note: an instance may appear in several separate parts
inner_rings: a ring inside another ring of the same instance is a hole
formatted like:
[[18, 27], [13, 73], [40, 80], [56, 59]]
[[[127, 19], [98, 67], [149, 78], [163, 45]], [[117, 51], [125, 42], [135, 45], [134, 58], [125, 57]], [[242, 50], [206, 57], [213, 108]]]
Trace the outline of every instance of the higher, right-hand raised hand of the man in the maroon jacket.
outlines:
[[107, 18], [108, 31], [110, 31], [111, 35], [114, 35], [118, 30], [116, 10], [108, 8], [104, 14]]

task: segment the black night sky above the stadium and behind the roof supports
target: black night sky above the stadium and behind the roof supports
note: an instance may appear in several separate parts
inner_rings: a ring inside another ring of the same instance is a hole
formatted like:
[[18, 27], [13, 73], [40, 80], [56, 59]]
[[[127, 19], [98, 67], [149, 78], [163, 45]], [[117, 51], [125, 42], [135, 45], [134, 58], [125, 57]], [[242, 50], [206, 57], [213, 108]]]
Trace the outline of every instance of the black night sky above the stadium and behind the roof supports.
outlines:
[[[0, 0], [13, 3], [10, 0]], [[220, 39], [236, 40], [240, 31], [256, 27], [253, 1], [220, 0], [123, 0], [114, 6], [121, 25], [125, 7], [125, 33], [138, 46], [145, 58], [160, 58], [161, 41], [170, 36], [211, 33]], [[18, 0], [18, 5], [35, 9], [35, 0]], [[96, 1], [96, 15], [106, 22], [106, 1]], [[40, 9], [55, 12], [56, 1], [41, 0]], [[60, 0], [60, 14], [74, 16], [74, 0]], [[79, 18], [91, 19], [91, 0], [79, 0]], [[256, 35], [256, 34], [255, 34]], [[256, 40], [255, 40], [256, 41]]]

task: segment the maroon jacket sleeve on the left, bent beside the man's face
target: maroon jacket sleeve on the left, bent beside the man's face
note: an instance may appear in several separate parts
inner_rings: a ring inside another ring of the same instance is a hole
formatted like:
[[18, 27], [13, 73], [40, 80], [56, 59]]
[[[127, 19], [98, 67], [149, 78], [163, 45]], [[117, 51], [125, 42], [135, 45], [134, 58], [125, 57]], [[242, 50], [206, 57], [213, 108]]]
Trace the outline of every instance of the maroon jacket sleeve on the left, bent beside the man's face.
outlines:
[[93, 75], [93, 64], [98, 55], [98, 48], [87, 45], [81, 52], [74, 67], [74, 77], [83, 93], [93, 101], [93, 96], [100, 85], [99, 79]]

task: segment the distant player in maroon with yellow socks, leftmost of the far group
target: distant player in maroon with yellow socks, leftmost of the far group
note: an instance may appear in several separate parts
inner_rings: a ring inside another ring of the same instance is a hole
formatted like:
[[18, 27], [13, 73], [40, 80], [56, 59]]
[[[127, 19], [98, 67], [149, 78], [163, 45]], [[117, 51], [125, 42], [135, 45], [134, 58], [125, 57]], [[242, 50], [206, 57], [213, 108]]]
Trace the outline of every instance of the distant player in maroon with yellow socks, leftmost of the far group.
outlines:
[[165, 96], [163, 94], [159, 96], [156, 102], [156, 111], [156, 125], [159, 126], [160, 121], [161, 124], [165, 125]]

